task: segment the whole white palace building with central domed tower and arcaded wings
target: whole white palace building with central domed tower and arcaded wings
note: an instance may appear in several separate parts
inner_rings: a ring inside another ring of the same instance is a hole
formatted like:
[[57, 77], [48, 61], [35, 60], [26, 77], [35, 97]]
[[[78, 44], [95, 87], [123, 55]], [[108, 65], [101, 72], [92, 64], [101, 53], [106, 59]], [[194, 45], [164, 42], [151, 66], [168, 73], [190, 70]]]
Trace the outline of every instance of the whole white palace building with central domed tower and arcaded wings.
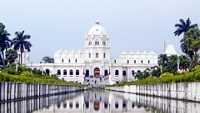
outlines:
[[132, 81], [138, 70], [157, 65], [158, 56], [153, 51], [122, 52], [119, 57], [111, 59], [109, 39], [97, 21], [85, 34], [83, 51], [58, 50], [54, 54], [54, 63], [31, 64], [31, 67], [49, 75], [56, 74], [65, 81], [85, 83], [89, 82], [87, 78], [99, 78], [113, 84]]

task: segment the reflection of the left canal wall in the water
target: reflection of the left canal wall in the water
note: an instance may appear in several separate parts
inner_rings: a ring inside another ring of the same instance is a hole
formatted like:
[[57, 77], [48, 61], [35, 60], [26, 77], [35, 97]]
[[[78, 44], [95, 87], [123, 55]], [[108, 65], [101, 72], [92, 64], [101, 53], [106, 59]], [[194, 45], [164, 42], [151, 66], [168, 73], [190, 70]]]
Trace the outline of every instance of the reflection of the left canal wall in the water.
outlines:
[[[48, 97], [33, 98], [28, 100], [15, 100], [12, 102], [0, 102], [0, 113], [31, 113], [38, 109], [48, 109], [55, 103], [75, 98], [80, 93], [69, 93], [66, 95], [54, 95]], [[58, 106], [59, 107], [59, 106]]]

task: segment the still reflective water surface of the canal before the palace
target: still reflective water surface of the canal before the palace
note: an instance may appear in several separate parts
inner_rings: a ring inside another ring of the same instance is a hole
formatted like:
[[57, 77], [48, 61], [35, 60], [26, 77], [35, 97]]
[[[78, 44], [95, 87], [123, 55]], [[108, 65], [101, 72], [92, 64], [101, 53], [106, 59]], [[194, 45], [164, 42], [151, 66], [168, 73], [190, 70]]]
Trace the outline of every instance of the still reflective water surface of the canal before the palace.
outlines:
[[93, 90], [1, 103], [1, 113], [200, 113], [200, 104]]

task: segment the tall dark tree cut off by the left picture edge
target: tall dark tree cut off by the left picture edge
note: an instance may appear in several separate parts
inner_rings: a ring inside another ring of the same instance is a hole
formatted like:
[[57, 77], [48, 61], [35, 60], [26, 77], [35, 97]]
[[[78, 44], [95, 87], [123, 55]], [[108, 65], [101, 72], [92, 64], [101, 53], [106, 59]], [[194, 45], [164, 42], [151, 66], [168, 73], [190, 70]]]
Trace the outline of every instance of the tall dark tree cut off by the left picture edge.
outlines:
[[5, 30], [5, 25], [0, 23], [0, 52], [3, 68], [5, 68], [5, 52], [11, 47], [10, 34]]

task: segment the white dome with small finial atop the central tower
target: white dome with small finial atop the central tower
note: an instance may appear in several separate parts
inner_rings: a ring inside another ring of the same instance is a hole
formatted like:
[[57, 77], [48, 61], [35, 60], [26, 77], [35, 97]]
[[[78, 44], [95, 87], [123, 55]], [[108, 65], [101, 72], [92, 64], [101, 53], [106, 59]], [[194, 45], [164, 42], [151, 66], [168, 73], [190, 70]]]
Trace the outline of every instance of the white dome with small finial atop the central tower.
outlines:
[[106, 35], [106, 31], [104, 28], [99, 24], [99, 21], [95, 22], [95, 25], [90, 28], [88, 35]]

